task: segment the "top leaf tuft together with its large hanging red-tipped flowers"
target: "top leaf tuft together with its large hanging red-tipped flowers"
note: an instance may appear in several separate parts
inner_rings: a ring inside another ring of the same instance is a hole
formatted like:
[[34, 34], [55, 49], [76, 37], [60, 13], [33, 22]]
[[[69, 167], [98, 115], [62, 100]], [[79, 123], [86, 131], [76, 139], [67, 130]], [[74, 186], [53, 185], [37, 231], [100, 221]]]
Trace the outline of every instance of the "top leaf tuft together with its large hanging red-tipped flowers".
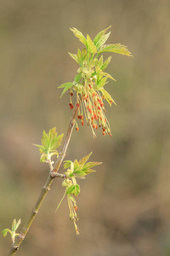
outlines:
[[[82, 126], [85, 121], [90, 125], [94, 138], [96, 137], [94, 130], [98, 128], [102, 129], [104, 136], [110, 135], [112, 137], [111, 127], [105, 116], [104, 106], [104, 100], [110, 106], [114, 102], [111, 95], [104, 89], [105, 84], [108, 83], [107, 79], [113, 79], [111, 74], [104, 72], [105, 68], [111, 62], [111, 56], [103, 61], [103, 55], [101, 53], [115, 52], [121, 55], [132, 56], [127, 47], [122, 44], [105, 44], [111, 34], [111, 32], [106, 33], [110, 27], [99, 32], [94, 38], [94, 41], [88, 35], [85, 38], [77, 28], [71, 29], [75, 36], [85, 45], [85, 48], [82, 51], [78, 49], [77, 55], [69, 53], [77, 61], [78, 65], [80, 65], [77, 70], [78, 74], [73, 83], [69, 82], [59, 86], [59, 88], [64, 88], [61, 96], [69, 90], [69, 105], [71, 109], [74, 108], [74, 104], [72, 103], [73, 91], [77, 92], [77, 119], [81, 120]], [[101, 55], [100, 58], [98, 58], [99, 55]], [[76, 130], [79, 131], [78, 125], [76, 125]]]

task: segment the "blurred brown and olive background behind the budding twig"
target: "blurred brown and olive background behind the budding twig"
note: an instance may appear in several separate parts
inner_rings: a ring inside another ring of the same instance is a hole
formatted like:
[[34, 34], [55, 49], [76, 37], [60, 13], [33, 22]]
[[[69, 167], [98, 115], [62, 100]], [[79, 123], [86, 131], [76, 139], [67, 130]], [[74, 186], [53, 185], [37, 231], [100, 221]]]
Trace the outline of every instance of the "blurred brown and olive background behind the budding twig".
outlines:
[[[168, 0], [0, 1], [0, 230], [14, 218], [26, 222], [48, 166], [37, 148], [42, 131], [67, 131], [69, 96], [77, 63], [68, 55], [82, 44], [69, 30], [92, 38], [111, 26], [108, 44], [128, 46], [133, 58], [113, 55], [107, 68], [117, 80], [107, 89], [117, 107], [107, 109], [114, 136], [94, 140], [85, 125], [71, 137], [65, 160], [93, 151], [102, 161], [80, 181], [81, 235], [68, 218], [56, 179], [18, 255], [170, 255], [170, 2]], [[60, 172], [63, 172], [62, 168]], [[0, 237], [0, 255], [10, 238]]]

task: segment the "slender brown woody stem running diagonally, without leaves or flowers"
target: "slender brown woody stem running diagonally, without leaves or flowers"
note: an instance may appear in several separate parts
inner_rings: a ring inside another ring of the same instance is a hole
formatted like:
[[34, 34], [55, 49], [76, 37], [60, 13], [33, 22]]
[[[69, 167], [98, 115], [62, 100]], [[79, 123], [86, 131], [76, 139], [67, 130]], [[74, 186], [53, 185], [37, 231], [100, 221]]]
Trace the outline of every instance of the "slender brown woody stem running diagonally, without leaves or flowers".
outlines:
[[14, 255], [19, 250], [21, 242], [25, 239], [26, 234], [29, 231], [34, 218], [36, 218], [36, 216], [37, 216], [37, 213], [42, 205], [42, 201], [44, 200], [45, 196], [47, 195], [48, 191], [50, 190], [50, 186], [54, 181], [54, 177], [64, 177], [65, 176], [64, 174], [59, 174], [58, 170], [59, 170], [59, 166], [61, 165], [62, 161], [65, 158], [65, 153], [66, 153], [66, 150], [67, 150], [68, 145], [71, 140], [71, 134], [72, 134], [72, 131], [73, 131], [73, 128], [75, 125], [75, 119], [77, 118], [77, 112], [78, 112], [78, 107], [76, 106], [73, 110], [73, 114], [70, 119], [68, 131], [67, 131], [67, 134], [65, 137], [65, 143], [63, 145], [61, 152], [59, 153], [59, 157], [54, 165], [54, 169], [52, 170], [52, 168], [50, 168], [50, 172], [48, 174], [48, 179], [41, 190], [41, 193], [37, 199], [37, 202], [32, 209], [30, 217], [28, 218], [26, 224], [21, 229], [20, 235], [17, 236], [16, 241], [14, 242], [14, 244], [12, 245], [12, 247], [10, 249], [10, 252], [8, 253], [8, 256]]

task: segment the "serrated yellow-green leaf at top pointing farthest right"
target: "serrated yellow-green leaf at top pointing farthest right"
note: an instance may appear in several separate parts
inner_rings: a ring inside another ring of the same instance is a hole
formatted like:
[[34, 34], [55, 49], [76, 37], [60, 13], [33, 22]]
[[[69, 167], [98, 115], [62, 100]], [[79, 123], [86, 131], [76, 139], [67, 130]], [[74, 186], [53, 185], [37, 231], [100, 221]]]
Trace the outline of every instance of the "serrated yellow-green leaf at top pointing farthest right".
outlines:
[[98, 55], [100, 55], [103, 52], [115, 52], [120, 55], [127, 55], [127, 56], [133, 56], [131, 55], [131, 52], [128, 51], [127, 46], [122, 44], [106, 44], [100, 47], [98, 51]]

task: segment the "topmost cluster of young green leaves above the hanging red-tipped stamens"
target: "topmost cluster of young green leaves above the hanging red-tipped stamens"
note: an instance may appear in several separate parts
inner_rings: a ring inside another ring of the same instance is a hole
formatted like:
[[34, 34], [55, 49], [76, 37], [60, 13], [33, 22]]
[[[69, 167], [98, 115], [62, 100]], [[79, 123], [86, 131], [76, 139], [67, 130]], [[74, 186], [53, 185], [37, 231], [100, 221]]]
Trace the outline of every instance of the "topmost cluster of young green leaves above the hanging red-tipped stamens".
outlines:
[[[61, 96], [70, 89], [76, 90], [79, 94], [81, 92], [84, 93], [84, 84], [88, 84], [93, 81], [95, 84], [94, 90], [100, 90], [110, 105], [111, 102], [114, 102], [109, 93], [105, 93], [105, 90], [103, 89], [105, 84], [108, 83], [107, 79], [113, 79], [111, 74], [104, 72], [105, 68], [108, 67], [111, 62], [111, 56], [104, 61], [103, 55], [101, 54], [111, 52], [127, 56], [132, 55], [125, 45], [105, 44], [111, 34], [111, 32], [107, 32], [110, 28], [111, 26], [99, 32], [94, 40], [92, 40], [89, 35], [85, 38], [82, 32], [78, 31], [77, 28], [71, 28], [71, 32], [73, 32], [79, 41], [84, 44], [85, 48], [82, 50], [78, 49], [77, 54], [69, 53], [71, 58], [77, 62], [80, 68], [77, 70], [78, 75], [75, 77], [73, 83], [68, 82], [59, 86], [59, 88], [64, 88]], [[100, 58], [99, 55], [101, 55]]]

